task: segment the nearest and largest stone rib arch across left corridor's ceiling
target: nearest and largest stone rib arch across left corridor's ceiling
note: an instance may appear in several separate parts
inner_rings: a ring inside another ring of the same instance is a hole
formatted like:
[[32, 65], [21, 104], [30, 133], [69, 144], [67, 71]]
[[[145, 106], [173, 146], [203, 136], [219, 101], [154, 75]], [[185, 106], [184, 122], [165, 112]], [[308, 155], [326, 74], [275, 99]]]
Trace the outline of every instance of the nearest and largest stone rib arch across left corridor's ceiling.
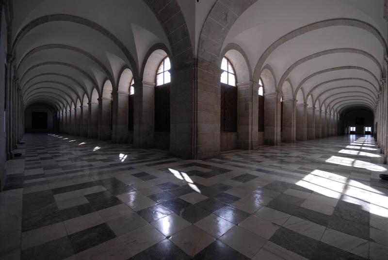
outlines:
[[[97, 24], [96, 22], [93, 22], [91, 20], [88, 20], [84, 17], [80, 16], [73, 16], [73, 15], [67, 15], [67, 14], [52, 14], [47, 16], [41, 16], [38, 17], [32, 21], [30, 21], [27, 25], [25, 25], [15, 36], [14, 42], [12, 43], [12, 53], [15, 52], [16, 46], [18, 42], [23, 38], [27, 33], [29, 33], [33, 28], [44, 24], [48, 22], [55, 22], [55, 21], [66, 21], [66, 22], [74, 22], [78, 23], [87, 27], [90, 27], [93, 30], [96, 30], [97, 32], [103, 34], [110, 40], [112, 40], [125, 54], [127, 57], [131, 67], [132, 71], [134, 71], [134, 75], [137, 75], [137, 65], [135, 62], [135, 59], [130, 54], [129, 50], [125, 46], [124, 43], [122, 43], [113, 33], [111, 33], [109, 30], [105, 29], [101, 25]], [[168, 35], [168, 34], [167, 34]]]

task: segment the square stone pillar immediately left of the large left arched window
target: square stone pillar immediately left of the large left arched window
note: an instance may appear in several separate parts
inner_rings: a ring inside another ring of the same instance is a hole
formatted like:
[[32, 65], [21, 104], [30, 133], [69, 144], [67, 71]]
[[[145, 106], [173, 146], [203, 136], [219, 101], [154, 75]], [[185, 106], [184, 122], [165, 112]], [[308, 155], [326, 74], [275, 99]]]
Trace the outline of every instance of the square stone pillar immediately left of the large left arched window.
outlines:
[[154, 146], [155, 83], [135, 82], [134, 88], [133, 146], [149, 148]]

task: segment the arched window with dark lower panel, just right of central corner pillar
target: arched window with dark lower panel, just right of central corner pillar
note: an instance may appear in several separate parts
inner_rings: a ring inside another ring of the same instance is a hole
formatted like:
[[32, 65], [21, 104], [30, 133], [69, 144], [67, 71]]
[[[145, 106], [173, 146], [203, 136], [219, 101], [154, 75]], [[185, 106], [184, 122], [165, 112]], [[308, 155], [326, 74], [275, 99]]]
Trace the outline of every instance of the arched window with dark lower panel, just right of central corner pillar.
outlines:
[[222, 132], [237, 132], [237, 87], [233, 65], [224, 57], [221, 63], [221, 124]]

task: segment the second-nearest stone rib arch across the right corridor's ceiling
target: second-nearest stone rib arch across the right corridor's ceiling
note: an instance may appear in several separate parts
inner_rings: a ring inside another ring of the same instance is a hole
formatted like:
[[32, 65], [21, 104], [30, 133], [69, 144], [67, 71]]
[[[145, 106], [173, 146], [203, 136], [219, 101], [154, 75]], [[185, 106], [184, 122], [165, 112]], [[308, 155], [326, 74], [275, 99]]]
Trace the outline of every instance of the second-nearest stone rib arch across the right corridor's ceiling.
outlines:
[[[323, 51], [319, 51], [317, 53], [314, 53], [314, 54], [311, 54], [311, 55], [308, 55], [302, 59], [299, 59], [298, 61], [294, 62], [283, 74], [283, 76], [281, 77], [280, 81], [279, 81], [279, 86], [281, 86], [281, 84], [288, 78], [288, 76], [290, 75], [291, 71], [296, 68], [297, 66], [301, 65], [302, 63], [305, 63], [309, 60], [312, 60], [312, 59], [315, 59], [315, 58], [318, 58], [318, 57], [321, 57], [321, 56], [324, 56], [324, 55], [329, 55], [329, 54], [334, 54], [334, 53], [357, 53], [357, 54], [360, 54], [360, 55], [363, 55], [363, 56], [366, 56], [368, 57], [369, 59], [371, 59], [376, 65], [377, 67], [379, 68], [380, 70], [380, 73], [381, 75], [383, 75], [383, 68], [382, 66], [380, 65], [380, 63], [378, 62], [378, 60], [373, 57], [370, 53], [364, 51], [364, 50], [360, 50], [360, 49], [353, 49], [353, 48], [339, 48], [339, 49], [327, 49], [327, 50], [323, 50]], [[381, 76], [380, 75], [380, 76]]]

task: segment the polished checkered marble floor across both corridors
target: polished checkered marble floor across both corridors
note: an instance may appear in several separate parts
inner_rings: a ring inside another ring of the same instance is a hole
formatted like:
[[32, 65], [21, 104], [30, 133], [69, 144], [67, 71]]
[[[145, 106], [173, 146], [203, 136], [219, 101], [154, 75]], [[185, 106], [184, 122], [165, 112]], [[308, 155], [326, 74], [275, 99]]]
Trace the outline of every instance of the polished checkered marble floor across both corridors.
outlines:
[[182, 160], [26, 134], [0, 193], [0, 259], [388, 256], [388, 181], [370, 136]]

